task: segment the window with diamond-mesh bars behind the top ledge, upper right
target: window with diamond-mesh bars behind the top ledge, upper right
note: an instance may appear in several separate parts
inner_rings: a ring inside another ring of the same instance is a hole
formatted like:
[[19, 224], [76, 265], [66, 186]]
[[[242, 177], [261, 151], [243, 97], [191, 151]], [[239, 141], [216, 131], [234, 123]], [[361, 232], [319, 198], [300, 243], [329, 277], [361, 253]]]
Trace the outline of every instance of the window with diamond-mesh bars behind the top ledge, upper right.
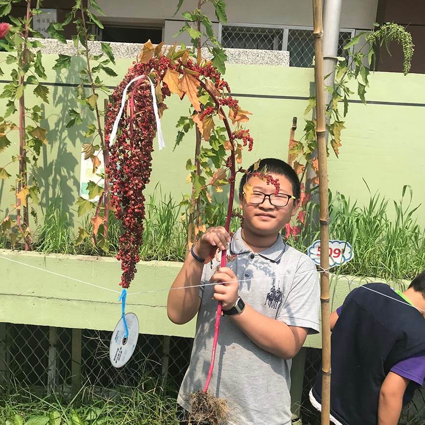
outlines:
[[[223, 25], [221, 44], [234, 49], [288, 50], [290, 66], [310, 67], [314, 56], [312, 30], [290, 26]], [[352, 34], [353, 30], [340, 31], [338, 56], [346, 55], [342, 47]]]

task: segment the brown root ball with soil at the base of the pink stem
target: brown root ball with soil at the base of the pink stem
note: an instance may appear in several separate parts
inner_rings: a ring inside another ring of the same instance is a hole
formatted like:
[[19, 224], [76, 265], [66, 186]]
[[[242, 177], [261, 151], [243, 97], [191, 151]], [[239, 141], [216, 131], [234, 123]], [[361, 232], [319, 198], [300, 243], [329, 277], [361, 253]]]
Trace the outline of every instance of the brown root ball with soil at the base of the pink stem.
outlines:
[[229, 408], [224, 399], [217, 399], [209, 391], [196, 391], [191, 394], [189, 425], [219, 425], [229, 416]]

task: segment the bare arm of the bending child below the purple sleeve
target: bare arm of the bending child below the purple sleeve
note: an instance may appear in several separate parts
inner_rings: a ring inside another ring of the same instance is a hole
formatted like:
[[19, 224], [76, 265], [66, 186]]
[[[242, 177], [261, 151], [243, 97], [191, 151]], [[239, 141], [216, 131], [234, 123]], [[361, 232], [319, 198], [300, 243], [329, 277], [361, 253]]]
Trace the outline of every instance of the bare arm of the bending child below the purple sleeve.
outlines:
[[410, 381], [394, 372], [385, 377], [379, 392], [378, 425], [397, 425], [403, 406], [404, 391]]

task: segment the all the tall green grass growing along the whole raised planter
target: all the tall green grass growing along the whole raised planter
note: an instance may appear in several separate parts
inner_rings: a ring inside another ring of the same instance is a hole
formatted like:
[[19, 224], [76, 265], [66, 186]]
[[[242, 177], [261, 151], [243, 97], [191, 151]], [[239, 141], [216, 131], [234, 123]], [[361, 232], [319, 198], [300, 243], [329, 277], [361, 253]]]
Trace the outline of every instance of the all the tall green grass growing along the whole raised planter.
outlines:
[[[413, 278], [425, 269], [425, 232], [414, 218], [418, 206], [412, 205], [411, 188], [403, 188], [399, 201], [390, 201], [370, 190], [369, 193], [369, 202], [360, 206], [342, 193], [332, 195], [329, 192], [330, 239], [346, 240], [354, 248], [353, 260], [341, 266], [338, 272], [388, 280]], [[215, 211], [208, 226], [222, 226], [227, 206], [215, 201], [213, 205]], [[187, 241], [186, 209], [170, 194], [163, 193], [158, 185], [148, 196], [145, 209], [144, 243], [140, 258], [145, 261], [183, 261]], [[297, 239], [291, 237], [288, 241], [302, 252], [306, 252], [312, 241], [319, 239], [317, 222], [308, 219], [317, 216], [317, 209], [318, 205], [312, 202], [307, 205], [306, 225]], [[89, 217], [85, 217], [78, 226], [90, 232]], [[235, 231], [238, 226], [239, 220], [232, 219], [231, 230]], [[43, 253], [114, 256], [120, 233], [120, 223], [111, 214], [107, 252], [95, 248], [89, 239], [77, 245], [71, 216], [63, 211], [60, 200], [55, 200], [44, 214], [43, 223], [35, 234], [33, 248]], [[0, 247], [9, 247], [4, 236], [0, 237]]]

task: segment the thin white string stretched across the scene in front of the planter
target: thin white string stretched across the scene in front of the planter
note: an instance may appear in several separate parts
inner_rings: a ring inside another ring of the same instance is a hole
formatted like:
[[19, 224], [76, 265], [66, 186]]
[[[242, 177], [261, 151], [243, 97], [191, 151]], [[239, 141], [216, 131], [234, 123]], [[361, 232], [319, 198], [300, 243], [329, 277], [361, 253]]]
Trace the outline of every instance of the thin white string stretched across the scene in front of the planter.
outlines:
[[[36, 269], [36, 270], [40, 270], [40, 271], [42, 271], [42, 272], [50, 273], [50, 274], [55, 275], [55, 276], [64, 277], [65, 279], [70, 279], [70, 280], [74, 280], [74, 281], [79, 282], [79, 283], [84, 283], [85, 285], [94, 286], [95, 288], [104, 289], [105, 291], [114, 292], [115, 294], [121, 294], [121, 292], [119, 292], [119, 291], [115, 291], [115, 290], [113, 290], [113, 289], [109, 289], [109, 288], [105, 288], [105, 287], [103, 287], [103, 286], [95, 285], [94, 283], [85, 282], [84, 280], [76, 279], [75, 277], [61, 275], [61, 274], [59, 274], [59, 273], [52, 272], [52, 271], [50, 271], [50, 270], [42, 269], [41, 267], [32, 266], [31, 264], [22, 263], [21, 261], [12, 260], [11, 258], [3, 257], [3, 256], [1, 256], [1, 255], [0, 255], [0, 258], [2, 258], [3, 260], [12, 261], [12, 262], [17, 263], [17, 264], [20, 264], [20, 265], [22, 265], [22, 266], [27, 266], [27, 267], [31, 267], [32, 269]], [[324, 273], [324, 272], [327, 272], [327, 271], [328, 271], [328, 270], [320, 270], [320, 271], [317, 271], [317, 273]], [[312, 272], [313, 272], [313, 270], [307, 270], [307, 271], [306, 271], [306, 272], [304, 272], [304, 273], [297, 273], [295, 276], [303, 275], [303, 274], [305, 274], [305, 273], [312, 273]], [[348, 277], [346, 277], [346, 276], [344, 276], [344, 275], [336, 275], [336, 274], [334, 274], [334, 273], [330, 273], [330, 275], [331, 275], [331, 276], [337, 276], [337, 278], [344, 278], [344, 279], [348, 280], [349, 282], [351, 282], [351, 283], [353, 283], [353, 284], [357, 285], [359, 288], [367, 289], [368, 291], [375, 292], [376, 294], [381, 295], [381, 296], [383, 296], [383, 297], [387, 297], [387, 298], [393, 299], [393, 300], [395, 300], [395, 301], [397, 301], [397, 302], [401, 302], [402, 304], [407, 305], [408, 307], [412, 307], [412, 308], [414, 308], [414, 309], [416, 309], [416, 310], [420, 310], [420, 311], [424, 311], [424, 312], [425, 312], [425, 310], [424, 310], [424, 309], [421, 309], [421, 308], [415, 307], [415, 306], [413, 306], [413, 305], [411, 305], [411, 304], [409, 304], [409, 303], [407, 303], [407, 302], [401, 301], [401, 300], [399, 300], [399, 299], [397, 299], [397, 298], [390, 297], [390, 296], [388, 296], [388, 295], [382, 294], [381, 292], [375, 291], [374, 289], [371, 289], [371, 288], [368, 288], [368, 287], [366, 287], [366, 286], [363, 286], [361, 283], [358, 283], [358, 282], [356, 282], [356, 281], [354, 281], [354, 280], [352, 280], [352, 279], [349, 279]], [[261, 279], [255, 279], [255, 280], [276, 279], [276, 278], [281, 278], [281, 277], [283, 277], [283, 276], [268, 276], [268, 277], [264, 277], [264, 278], [261, 278]], [[254, 279], [231, 280], [231, 281], [229, 281], [229, 282], [227, 282], [227, 283], [234, 283], [234, 282], [247, 282], [247, 281], [250, 281], [250, 280], [254, 280]], [[204, 283], [204, 284], [200, 284], [200, 285], [178, 286], [178, 287], [176, 287], [176, 288], [170, 288], [170, 289], [167, 289], [167, 288], [161, 288], [161, 289], [153, 289], [153, 290], [150, 290], [150, 291], [142, 291], [142, 292], [129, 293], [129, 294], [127, 294], [127, 295], [150, 294], [150, 293], [154, 293], [154, 292], [171, 291], [171, 290], [174, 290], [174, 289], [199, 288], [199, 287], [201, 287], [201, 286], [202, 286], [202, 287], [204, 287], [204, 286], [211, 286], [211, 285], [216, 285], [216, 284], [217, 284], [217, 282], [214, 282], [214, 283]]]

